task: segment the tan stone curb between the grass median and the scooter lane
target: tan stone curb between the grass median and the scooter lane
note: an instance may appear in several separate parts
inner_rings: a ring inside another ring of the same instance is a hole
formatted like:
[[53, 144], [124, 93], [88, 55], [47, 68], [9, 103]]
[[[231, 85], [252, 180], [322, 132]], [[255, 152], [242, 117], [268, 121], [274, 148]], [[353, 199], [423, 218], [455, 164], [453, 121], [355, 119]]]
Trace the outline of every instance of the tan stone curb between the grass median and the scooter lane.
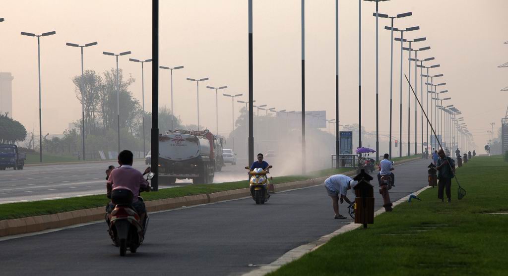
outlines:
[[[420, 158], [403, 160], [397, 165], [419, 159]], [[356, 175], [356, 170], [346, 171], [343, 174], [346, 176], [354, 176]], [[281, 192], [285, 190], [299, 189], [323, 184], [327, 178], [328, 177], [321, 177], [303, 181], [274, 184], [274, 192]], [[184, 206], [213, 203], [217, 201], [238, 199], [248, 196], [250, 196], [249, 188], [243, 188], [211, 194], [186, 195], [181, 197], [150, 200], [145, 201], [145, 205], [147, 212], [157, 212], [181, 208]], [[105, 207], [97, 207], [51, 215], [2, 220], [0, 221], [0, 237], [39, 232], [48, 229], [66, 227], [74, 224], [98, 221], [104, 219], [104, 214]]]

